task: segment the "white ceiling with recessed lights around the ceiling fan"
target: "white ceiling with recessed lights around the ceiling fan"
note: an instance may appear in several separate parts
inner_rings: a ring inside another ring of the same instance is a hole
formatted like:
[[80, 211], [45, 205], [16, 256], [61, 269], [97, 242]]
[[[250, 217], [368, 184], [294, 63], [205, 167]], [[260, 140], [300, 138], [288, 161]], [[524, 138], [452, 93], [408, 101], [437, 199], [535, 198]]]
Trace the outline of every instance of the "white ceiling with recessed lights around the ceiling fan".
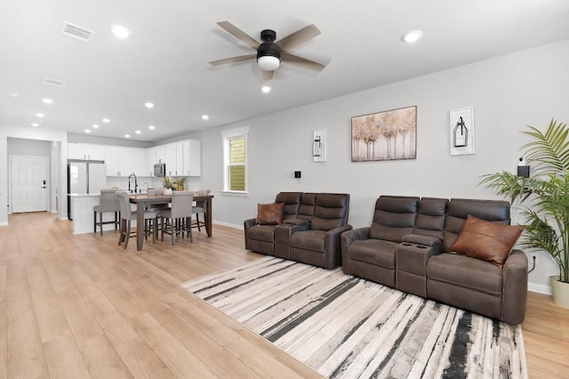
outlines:
[[[208, 64], [253, 52], [221, 20], [256, 39], [272, 28], [277, 41], [314, 23], [322, 34], [293, 53], [328, 65], [315, 74], [283, 63], [261, 93], [254, 60]], [[3, 1], [0, 125], [30, 127], [41, 112], [40, 128], [83, 134], [99, 124], [90, 135], [161, 141], [567, 39], [567, 20], [567, 0]], [[63, 36], [64, 21], [93, 30], [92, 41]], [[117, 39], [111, 24], [132, 35]], [[411, 29], [424, 36], [404, 44]]]

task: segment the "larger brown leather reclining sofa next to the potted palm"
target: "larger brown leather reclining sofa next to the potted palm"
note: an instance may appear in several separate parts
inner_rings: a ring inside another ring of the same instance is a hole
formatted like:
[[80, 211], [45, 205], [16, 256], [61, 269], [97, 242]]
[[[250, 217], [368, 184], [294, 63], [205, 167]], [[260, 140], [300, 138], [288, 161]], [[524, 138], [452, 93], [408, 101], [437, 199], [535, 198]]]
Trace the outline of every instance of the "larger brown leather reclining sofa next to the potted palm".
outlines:
[[517, 325], [525, 318], [527, 258], [513, 250], [500, 267], [453, 254], [469, 214], [510, 222], [506, 201], [382, 196], [370, 227], [341, 235], [342, 269]]

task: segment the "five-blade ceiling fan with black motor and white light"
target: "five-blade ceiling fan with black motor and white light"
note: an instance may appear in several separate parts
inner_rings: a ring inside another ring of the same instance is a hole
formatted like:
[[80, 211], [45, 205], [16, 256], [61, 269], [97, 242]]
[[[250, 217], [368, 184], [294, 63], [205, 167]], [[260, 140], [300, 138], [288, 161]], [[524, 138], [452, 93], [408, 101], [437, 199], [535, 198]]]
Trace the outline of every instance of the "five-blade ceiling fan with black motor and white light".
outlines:
[[275, 42], [275, 30], [265, 29], [261, 31], [260, 39], [263, 42], [258, 42], [252, 36], [247, 35], [243, 30], [237, 28], [229, 21], [220, 21], [217, 24], [231, 36], [235, 36], [239, 41], [257, 51], [257, 53], [225, 58], [223, 60], [213, 60], [210, 62], [212, 66], [220, 66], [222, 64], [256, 59], [257, 64], [261, 69], [263, 79], [265, 80], [273, 77], [275, 70], [279, 68], [281, 61], [291, 63], [301, 69], [309, 69], [317, 72], [322, 71], [322, 69], [325, 68], [325, 65], [321, 63], [314, 60], [307, 60], [306, 58], [293, 55], [289, 52], [320, 34], [320, 30], [314, 24], [301, 28], [293, 34], [280, 39], [278, 42]]

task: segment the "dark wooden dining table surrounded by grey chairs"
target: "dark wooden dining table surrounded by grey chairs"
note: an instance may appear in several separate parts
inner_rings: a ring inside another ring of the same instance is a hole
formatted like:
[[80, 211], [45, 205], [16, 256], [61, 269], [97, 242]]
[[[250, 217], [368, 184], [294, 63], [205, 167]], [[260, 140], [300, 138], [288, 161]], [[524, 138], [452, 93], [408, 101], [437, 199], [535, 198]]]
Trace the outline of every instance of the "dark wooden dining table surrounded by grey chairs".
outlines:
[[[172, 195], [132, 194], [129, 196], [131, 204], [136, 204], [136, 228], [144, 228], [144, 210], [156, 204], [170, 204]], [[204, 204], [204, 224], [207, 237], [212, 237], [212, 200], [213, 195], [194, 195], [194, 201]], [[136, 250], [142, 250], [144, 233], [136, 233]]]

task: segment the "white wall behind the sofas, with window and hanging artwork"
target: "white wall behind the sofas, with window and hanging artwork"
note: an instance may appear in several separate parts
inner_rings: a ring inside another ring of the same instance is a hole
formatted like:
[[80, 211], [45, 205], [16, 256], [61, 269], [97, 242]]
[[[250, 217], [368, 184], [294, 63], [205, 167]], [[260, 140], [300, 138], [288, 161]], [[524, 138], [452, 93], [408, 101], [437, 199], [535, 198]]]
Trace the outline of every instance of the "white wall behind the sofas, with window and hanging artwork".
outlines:
[[[215, 196], [213, 220], [241, 226], [255, 216], [257, 203], [273, 201], [281, 190], [349, 193], [355, 228], [371, 223], [380, 195], [497, 198], [478, 185], [480, 176], [516, 169], [525, 125], [544, 128], [552, 117], [569, 121], [567, 67], [569, 40], [192, 134], [202, 140], [202, 185]], [[416, 159], [351, 162], [351, 117], [413, 105]], [[474, 107], [476, 154], [452, 157], [448, 112], [463, 107]], [[222, 195], [220, 132], [244, 125], [250, 131], [250, 196]], [[314, 163], [312, 132], [323, 128], [328, 159]], [[295, 170], [301, 170], [300, 180], [293, 178]], [[519, 221], [515, 210], [512, 216]], [[547, 292], [556, 270], [542, 254], [531, 288]]]

